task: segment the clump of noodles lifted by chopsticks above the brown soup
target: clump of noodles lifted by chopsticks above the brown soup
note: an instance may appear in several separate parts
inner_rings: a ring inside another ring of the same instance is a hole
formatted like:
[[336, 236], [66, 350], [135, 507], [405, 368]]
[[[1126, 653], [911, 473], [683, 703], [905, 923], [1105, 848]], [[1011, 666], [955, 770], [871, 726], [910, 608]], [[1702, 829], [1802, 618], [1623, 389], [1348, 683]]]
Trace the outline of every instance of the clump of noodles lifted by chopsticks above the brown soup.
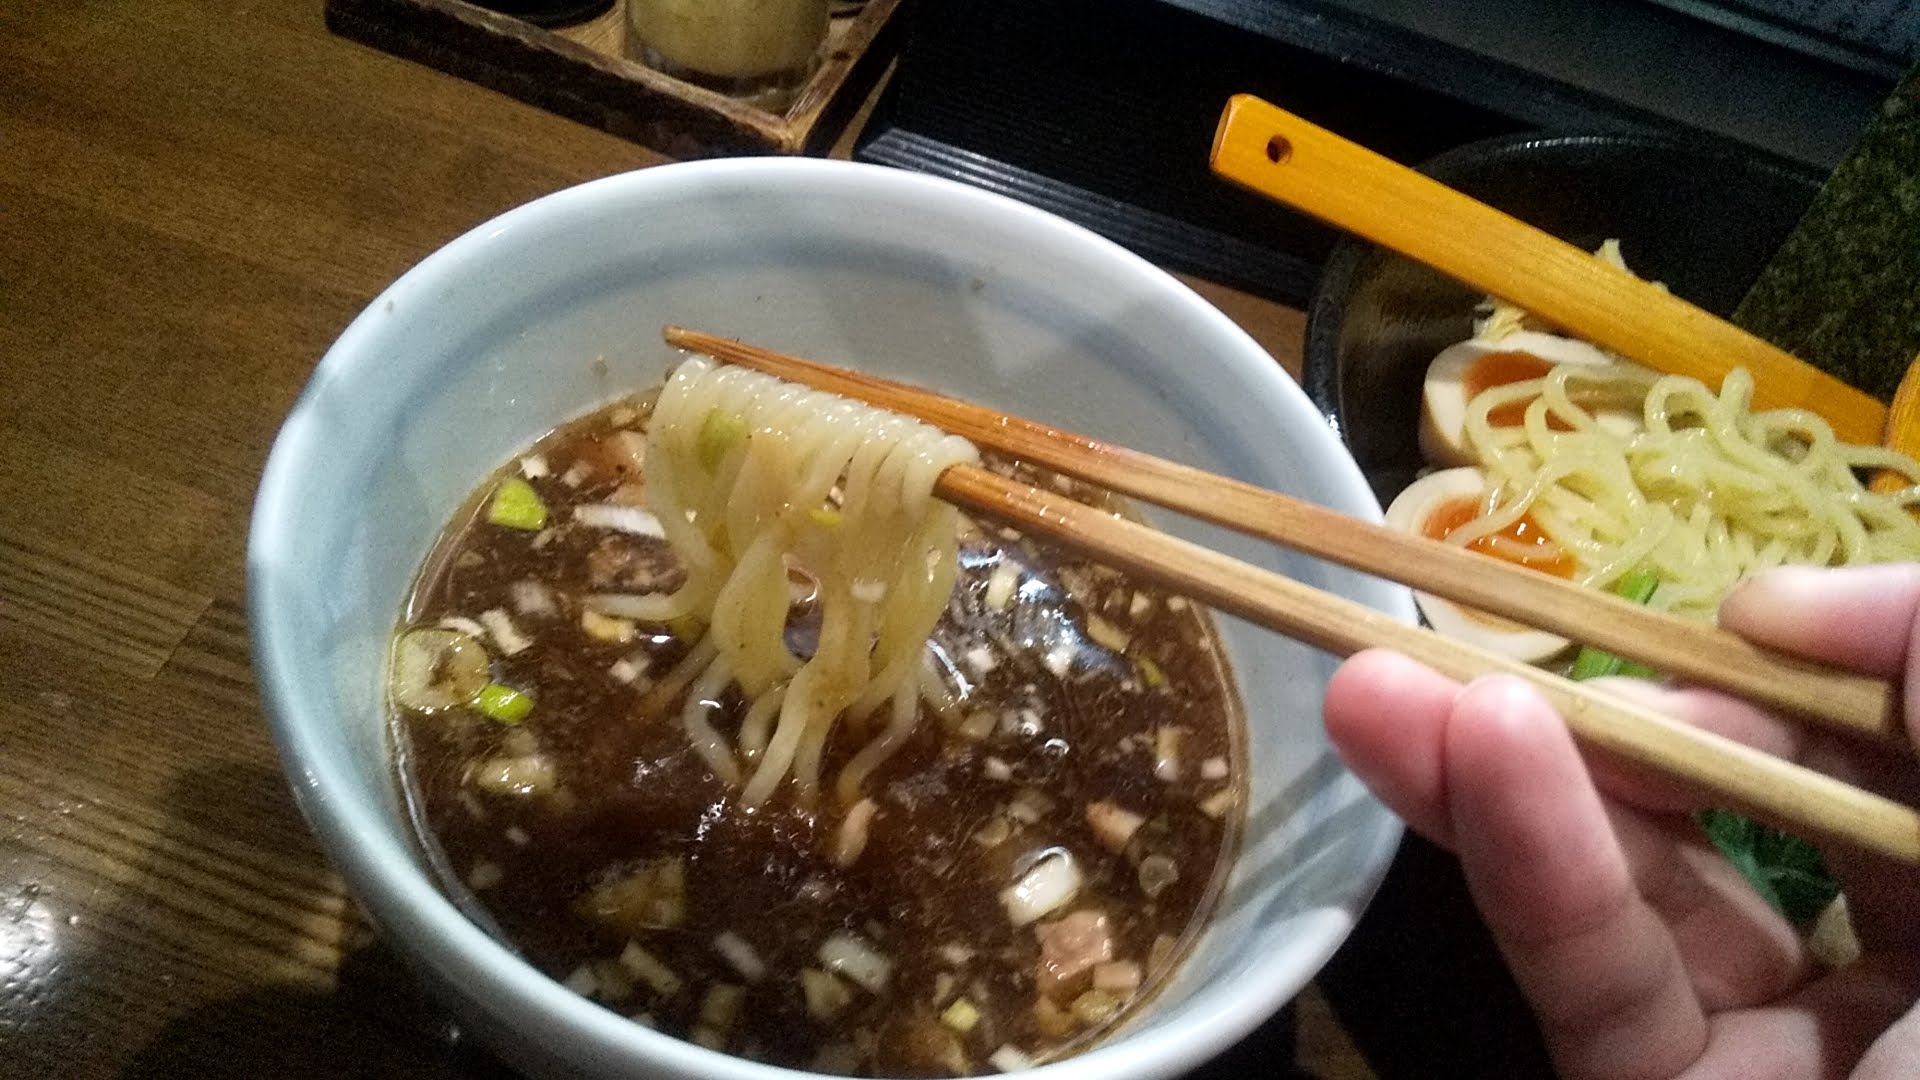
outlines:
[[[954, 509], [933, 498], [962, 438], [833, 394], [693, 357], [674, 369], [647, 429], [647, 500], [685, 567], [657, 607], [705, 634], [668, 678], [716, 776], [755, 807], [793, 780], [803, 803], [843, 715], [876, 734], [835, 780], [843, 803], [918, 724], [918, 671], [956, 575]], [[787, 644], [789, 567], [818, 582], [812, 657]], [[737, 748], [712, 724], [728, 686], [747, 698]]]

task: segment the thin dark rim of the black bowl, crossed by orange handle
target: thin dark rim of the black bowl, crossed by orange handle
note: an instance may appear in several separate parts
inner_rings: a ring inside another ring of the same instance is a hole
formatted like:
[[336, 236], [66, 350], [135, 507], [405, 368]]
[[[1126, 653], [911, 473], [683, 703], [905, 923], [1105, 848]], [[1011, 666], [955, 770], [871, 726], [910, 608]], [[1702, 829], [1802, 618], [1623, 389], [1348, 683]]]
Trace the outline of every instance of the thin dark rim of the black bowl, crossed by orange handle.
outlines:
[[[1517, 131], [1453, 146], [1427, 158], [1413, 169], [1452, 186], [1459, 183], [1461, 175], [1488, 163], [1513, 158], [1526, 160], [1536, 154], [1551, 160], [1553, 156], [1576, 154], [1580, 150], [1632, 150], [1693, 161], [1728, 161], [1738, 163], [1743, 171], [1764, 173], [1782, 183], [1805, 184], [1809, 186], [1809, 194], [1822, 181], [1818, 171], [1784, 158], [1747, 150], [1713, 136], [1690, 138], [1663, 131]], [[1346, 311], [1346, 300], [1354, 292], [1354, 279], [1359, 273], [1361, 261], [1373, 254], [1392, 252], [1371, 240], [1342, 234], [1327, 256], [1327, 261], [1321, 263], [1319, 281], [1308, 298], [1308, 329], [1300, 354], [1300, 388], [1306, 390], [1315, 411], [1340, 436], [1342, 444], [1346, 444], [1346, 430], [1342, 427], [1340, 369], [1336, 363], [1340, 356], [1340, 321]]]

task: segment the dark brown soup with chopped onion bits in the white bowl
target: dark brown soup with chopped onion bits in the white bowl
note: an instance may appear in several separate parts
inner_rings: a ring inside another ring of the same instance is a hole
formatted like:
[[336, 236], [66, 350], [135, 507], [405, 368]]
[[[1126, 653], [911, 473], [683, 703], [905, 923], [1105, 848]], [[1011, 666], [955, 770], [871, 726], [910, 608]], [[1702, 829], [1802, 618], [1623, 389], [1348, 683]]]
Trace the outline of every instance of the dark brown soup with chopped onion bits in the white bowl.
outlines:
[[[453, 626], [486, 650], [476, 703], [394, 709], [399, 780], [449, 894], [605, 1007], [778, 1065], [970, 1074], [1123, 1022], [1183, 955], [1235, 849], [1242, 721], [1206, 615], [962, 519], [927, 653], [943, 690], [914, 740], [854, 811], [791, 790], [743, 811], [657, 686], [699, 626], [582, 605], [680, 580], [645, 513], [578, 511], [637, 509], [645, 413], [611, 405], [503, 469], [407, 603], [403, 632]], [[511, 525], [490, 521], [503, 486], [513, 513], [492, 517]], [[831, 742], [822, 774], [860, 742]], [[1077, 876], [1064, 899], [1060, 871]]]

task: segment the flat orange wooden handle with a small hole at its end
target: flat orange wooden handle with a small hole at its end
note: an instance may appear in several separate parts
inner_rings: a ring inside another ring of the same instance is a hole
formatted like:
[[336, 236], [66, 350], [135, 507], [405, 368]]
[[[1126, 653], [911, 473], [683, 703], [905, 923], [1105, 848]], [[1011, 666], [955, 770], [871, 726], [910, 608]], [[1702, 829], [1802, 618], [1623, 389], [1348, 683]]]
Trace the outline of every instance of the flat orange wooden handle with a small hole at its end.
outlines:
[[1524, 221], [1390, 161], [1286, 110], [1240, 94], [1213, 135], [1213, 173], [1565, 327], [1655, 371], [1718, 388], [1753, 373], [1753, 405], [1812, 409], [1857, 444], [1887, 409], [1811, 363], [1620, 273]]

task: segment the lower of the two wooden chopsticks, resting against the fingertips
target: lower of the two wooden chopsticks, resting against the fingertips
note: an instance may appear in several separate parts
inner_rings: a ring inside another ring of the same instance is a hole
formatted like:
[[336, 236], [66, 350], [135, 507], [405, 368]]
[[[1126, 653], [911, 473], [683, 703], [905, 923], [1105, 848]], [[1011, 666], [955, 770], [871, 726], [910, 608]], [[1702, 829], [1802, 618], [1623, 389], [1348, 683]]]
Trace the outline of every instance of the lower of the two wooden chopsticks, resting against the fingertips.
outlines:
[[[737, 361], [872, 404], [885, 405], [877, 400], [885, 396], [879, 390], [900, 394], [899, 384], [893, 382], [795, 361], [795, 357], [695, 331], [668, 329], [666, 340], [722, 361]], [[950, 400], [939, 398], [939, 402]], [[912, 409], [902, 411], [912, 413]], [[1008, 427], [1020, 425], [1010, 421]], [[1081, 436], [1068, 438], [1104, 448], [1104, 444]], [[998, 442], [991, 444], [998, 446]], [[1740, 742], [1682, 724], [1594, 686], [1569, 682], [1521, 661], [1409, 626], [1361, 603], [1319, 592], [1273, 571], [1252, 567], [1198, 544], [1092, 509], [1064, 494], [1020, 484], [979, 467], [954, 465], [947, 469], [935, 484], [935, 494], [1033, 536], [1044, 536], [1125, 569], [1139, 580], [1188, 596], [1334, 655], [1390, 648], [1459, 680], [1488, 673], [1524, 678], [1559, 709], [1567, 728], [1590, 751], [1676, 780], [1715, 805], [1749, 813], [1782, 828], [1920, 865], [1920, 811], [1770, 757]]]

